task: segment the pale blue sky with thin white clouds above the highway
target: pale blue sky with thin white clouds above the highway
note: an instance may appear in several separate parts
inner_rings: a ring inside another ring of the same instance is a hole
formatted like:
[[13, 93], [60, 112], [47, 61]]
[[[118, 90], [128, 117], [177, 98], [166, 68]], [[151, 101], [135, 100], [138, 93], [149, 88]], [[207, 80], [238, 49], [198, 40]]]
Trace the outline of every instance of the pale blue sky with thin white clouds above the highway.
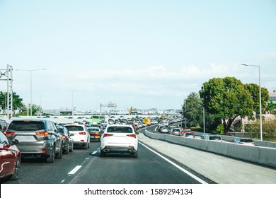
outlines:
[[211, 78], [258, 84], [242, 63], [276, 90], [275, 0], [0, 0], [0, 71], [44, 109], [180, 109]]

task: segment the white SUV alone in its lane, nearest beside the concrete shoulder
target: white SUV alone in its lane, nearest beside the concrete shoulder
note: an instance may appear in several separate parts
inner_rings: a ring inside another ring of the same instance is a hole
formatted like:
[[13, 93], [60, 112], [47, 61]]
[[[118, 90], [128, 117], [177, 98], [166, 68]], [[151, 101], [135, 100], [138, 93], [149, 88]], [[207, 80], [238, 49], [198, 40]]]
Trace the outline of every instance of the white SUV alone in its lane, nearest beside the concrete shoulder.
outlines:
[[110, 124], [100, 137], [100, 156], [106, 153], [130, 153], [138, 156], [138, 136], [131, 125]]

